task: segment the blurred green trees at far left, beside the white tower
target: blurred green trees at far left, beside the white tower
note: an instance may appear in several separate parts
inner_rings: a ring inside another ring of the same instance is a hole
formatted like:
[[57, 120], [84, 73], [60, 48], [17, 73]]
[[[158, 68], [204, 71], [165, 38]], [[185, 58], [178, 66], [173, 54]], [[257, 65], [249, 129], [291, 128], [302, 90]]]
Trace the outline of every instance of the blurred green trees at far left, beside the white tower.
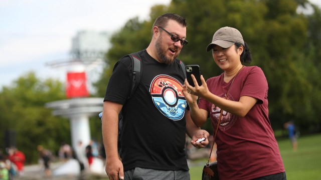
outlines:
[[[0, 131], [16, 132], [16, 145], [26, 154], [27, 162], [38, 159], [37, 145], [55, 152], [62, 141], [70, 139], [69, 121], [53, 116], [45, 107], [46, 102], [64, 98], [62, 82], [40, 80], [34, 72], [23, 74], [0, 92]], [[3, 135], [0, 144], [5, 144]]]

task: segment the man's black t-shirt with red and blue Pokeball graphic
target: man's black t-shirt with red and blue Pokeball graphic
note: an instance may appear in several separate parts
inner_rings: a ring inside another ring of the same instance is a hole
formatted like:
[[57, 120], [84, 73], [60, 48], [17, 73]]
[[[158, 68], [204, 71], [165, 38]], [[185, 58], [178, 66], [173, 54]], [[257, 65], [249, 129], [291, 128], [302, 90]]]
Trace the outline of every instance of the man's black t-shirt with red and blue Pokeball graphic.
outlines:
[[146, 50], [138, 54], [142, 76], [133, 96], [126, 101], [131, 87], [131, 60], [126, 56], [114, 68], [104, 98], [124, 104], [120, 139], [124, 170], [189, 170], [183, 70], [178, 62], [159, 63]]

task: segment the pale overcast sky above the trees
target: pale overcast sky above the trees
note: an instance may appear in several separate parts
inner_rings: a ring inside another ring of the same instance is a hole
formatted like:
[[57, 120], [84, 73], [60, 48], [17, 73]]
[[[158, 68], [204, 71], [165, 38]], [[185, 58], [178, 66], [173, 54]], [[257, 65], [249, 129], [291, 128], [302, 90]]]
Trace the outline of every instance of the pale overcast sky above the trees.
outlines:
[[112, 33], [129, 18], [146, 19], [152, 5], [170, 1], [0, 0], [0, 89], [31, 70], [38, 77], [65, 81], [66, 69], [46, 63], [70, 58], [71, 40], [78, 31]]

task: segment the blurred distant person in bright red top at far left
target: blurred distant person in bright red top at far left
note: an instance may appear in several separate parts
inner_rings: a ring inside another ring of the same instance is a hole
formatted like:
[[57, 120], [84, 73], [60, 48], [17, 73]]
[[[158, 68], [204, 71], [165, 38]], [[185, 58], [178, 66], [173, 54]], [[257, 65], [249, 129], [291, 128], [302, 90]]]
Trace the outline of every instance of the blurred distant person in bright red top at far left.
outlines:
[[16, 164], [18, 175], [23, 175], [26, 160], [25, 154], [16, 147], [11, 147], [9, 149], [8, 159]]

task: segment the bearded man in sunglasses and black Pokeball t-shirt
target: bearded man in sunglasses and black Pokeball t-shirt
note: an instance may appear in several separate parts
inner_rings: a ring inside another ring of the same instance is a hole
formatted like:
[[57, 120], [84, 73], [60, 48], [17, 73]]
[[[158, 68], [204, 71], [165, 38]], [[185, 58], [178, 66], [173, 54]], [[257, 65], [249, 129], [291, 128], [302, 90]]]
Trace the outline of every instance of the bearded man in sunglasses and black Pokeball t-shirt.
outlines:
[[[188, 42], [186, 20], [175, 13], [156, 18], [148, 47], [138, 52], [142, 76], [135, 93], [131, 60], [120, 59], [108, 82], [102, 114], [106, 172], [110, 179], [190, 179], [185, 134], [195, 142], [209, 133], [197, 127], [182, 93], [185, 76], [176, 57]], [[118, 114], [122, 110], [121, 153], [117, 151]]]

